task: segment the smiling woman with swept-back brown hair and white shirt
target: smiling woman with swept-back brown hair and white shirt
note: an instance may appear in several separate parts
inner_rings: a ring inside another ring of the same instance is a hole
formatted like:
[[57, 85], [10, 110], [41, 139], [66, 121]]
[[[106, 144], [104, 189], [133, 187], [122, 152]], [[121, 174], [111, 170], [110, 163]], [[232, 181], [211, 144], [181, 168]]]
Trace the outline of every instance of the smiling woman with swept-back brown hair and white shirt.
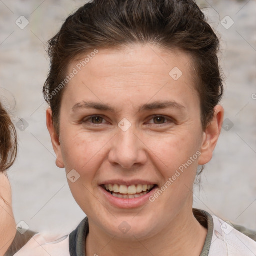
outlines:
[[70, 255], [255, 255], [192, 208], [223, 121], [218, 46], [192, 0], [94, 0], [50, 40], [47, 127], [87, 215]]

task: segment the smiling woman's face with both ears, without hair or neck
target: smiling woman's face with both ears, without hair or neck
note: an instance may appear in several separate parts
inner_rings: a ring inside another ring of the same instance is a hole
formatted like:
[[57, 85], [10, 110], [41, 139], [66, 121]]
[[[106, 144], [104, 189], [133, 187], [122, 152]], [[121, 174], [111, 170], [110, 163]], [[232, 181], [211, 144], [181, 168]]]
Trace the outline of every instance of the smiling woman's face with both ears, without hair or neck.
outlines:
[[202, 130], [187, 54], [147, 45], [98, 50], [84, 67], [87, 54], [69, 65], [76, 74], [63, 93], [59, 141], [47, 111], [56, 162], [90, 224], [149, 237], [191, 212], [197, 166], [211, 158], [221, 114]]

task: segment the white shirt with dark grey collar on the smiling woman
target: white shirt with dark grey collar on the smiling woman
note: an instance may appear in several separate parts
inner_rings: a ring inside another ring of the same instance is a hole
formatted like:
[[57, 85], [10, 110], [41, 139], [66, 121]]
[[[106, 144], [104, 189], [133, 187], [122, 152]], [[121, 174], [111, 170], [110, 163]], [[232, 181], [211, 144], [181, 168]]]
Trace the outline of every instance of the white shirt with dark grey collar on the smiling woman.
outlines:
[[[203, 216], [208, 221], [208, 233], [200, 256], [256, 255], [256, 241], [234, 229], [228, 222], [214, 215], [211, 216], [203, 210], [197, 210], [197, 214], [198, 212], [206, 213]], [[72, 251], [72, 256], [85, 256], [84, 235], [86, 237], [87, 230], [86, 217], [70, 235], [56, 239], [44, 238], [42, 234], [36, 234], [14, 256], [70, 256], [69, 250]], [[69, 239], [72, 248], [69, 248]]]

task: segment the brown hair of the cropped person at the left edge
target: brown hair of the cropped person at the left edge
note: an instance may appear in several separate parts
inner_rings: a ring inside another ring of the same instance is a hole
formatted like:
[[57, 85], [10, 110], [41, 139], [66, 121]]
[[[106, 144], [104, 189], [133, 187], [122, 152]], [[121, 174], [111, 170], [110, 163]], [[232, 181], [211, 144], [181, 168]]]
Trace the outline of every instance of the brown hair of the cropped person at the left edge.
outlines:
[[0, 171], [8, 169], [13, 164], [16, 155], [16, 129], [0, 102]]

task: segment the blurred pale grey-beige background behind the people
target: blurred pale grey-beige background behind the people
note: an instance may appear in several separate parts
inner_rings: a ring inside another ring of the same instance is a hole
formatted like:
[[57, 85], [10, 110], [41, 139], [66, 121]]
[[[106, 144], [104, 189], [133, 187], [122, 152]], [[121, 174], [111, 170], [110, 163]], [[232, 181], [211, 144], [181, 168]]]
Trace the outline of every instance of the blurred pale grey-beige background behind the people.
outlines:
[[[72, 231], [85, 214], [74, 201], [45, 124], [46, 42], [82, 0], [0, 0], [0, 100], [12, 115], [19, 152], [8, 171], [16, 222]], [[194, 207], [256, 230], [256, 1], [198, 0], [221, 37], [224, 124], [194, 186]], [[21, 121], [22, 120], [22, 121]]]

